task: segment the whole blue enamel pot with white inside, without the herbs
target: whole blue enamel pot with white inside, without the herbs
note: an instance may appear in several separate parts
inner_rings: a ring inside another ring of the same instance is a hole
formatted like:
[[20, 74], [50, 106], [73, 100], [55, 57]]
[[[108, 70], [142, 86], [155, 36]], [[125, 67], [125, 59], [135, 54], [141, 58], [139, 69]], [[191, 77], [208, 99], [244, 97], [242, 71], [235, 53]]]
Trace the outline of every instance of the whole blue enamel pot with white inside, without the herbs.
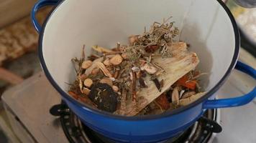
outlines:
[[[38, 9], [54, 5], [45, 23], [35, 18]], [[91, 46], [127, 43], [130, 34], [141, 34], [144, 26], [173, 16], [179, 39], [198, 54], [198, 69], [209, 73], [202, 80], [204, 97], [186, 107], [145, 117], [122, 117], [92, 109], [68, 96], [68, 83], [76, 79], [70, 59], [86, 54]], [[55, 89], [68, 107], [88, 127], [116, 142], [161, 142], [190, 127], [206, 109], [238, 107], [252, 101], [252, 92], [233, 99], [214, 99], [216, 91], [238, 69], [256, 78], [256, 71], [237, 61], [239, 31], [229, 9], [220, 0], [40, 0], [32, 9], [32, 22], [40, 33], [39, 56]]]

